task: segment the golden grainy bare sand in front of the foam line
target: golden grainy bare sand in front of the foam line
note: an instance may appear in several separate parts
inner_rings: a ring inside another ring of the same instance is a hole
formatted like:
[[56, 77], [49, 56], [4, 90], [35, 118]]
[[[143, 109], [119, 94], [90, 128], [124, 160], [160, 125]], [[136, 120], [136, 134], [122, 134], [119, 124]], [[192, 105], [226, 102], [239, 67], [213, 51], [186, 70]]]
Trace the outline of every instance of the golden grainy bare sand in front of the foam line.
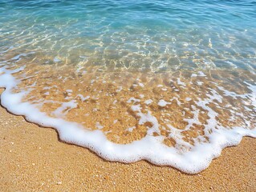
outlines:
[[0, 191], [256, 191], [255, 144], [243, 138], [208, 169], [188, 175], [144, 161], [104, 161], [1, 107]]

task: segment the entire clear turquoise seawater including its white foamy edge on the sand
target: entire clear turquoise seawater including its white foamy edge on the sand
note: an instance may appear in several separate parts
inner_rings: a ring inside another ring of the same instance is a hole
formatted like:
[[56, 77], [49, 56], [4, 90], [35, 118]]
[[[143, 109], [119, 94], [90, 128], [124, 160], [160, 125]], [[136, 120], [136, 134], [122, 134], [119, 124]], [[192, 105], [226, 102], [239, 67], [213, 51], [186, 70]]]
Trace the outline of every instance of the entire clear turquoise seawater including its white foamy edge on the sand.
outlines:
[[109, 161], [194, 174], [256, 137], [256, 2], [0, 0], [1, 104]]

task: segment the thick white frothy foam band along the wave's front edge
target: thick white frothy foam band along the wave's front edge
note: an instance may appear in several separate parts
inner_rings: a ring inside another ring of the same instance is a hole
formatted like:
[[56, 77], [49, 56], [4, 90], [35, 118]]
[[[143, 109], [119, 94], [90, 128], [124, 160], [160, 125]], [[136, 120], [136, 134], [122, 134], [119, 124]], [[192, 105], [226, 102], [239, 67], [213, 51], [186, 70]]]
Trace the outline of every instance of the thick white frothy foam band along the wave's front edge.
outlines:
[[[4, 73], [4, 74], [2, 74]], [[101, 130], [89, 130], [76, 122], [67, 122], [62, 118], [51, 118], [45, 113], [40, 112], [35, 105], [28, 102], [22, 102], [22, 97], [27, 93], [25, 91], [14, 94], [11, 92], [18, 81], [11, 75], [11, 71], [0, 68], [0, 86], [6, 87], [1, 95], [2, 106], [5, 106], [13, 114], [24, 115], [30, 122], [35, 122], [41, 126], [54, 127], [59, 132], [59, 138], [65, 142], [74, 143], [78, 146], [87, 147], [100, 157], [109, 161], [118, 162], [136, 162], [146, 159], [157, 165], [173, 166], [189, 174], [196, 174], [201, 170], [205, 170], [213, 158], [217, 158], [221, 154], [221, 150], [226, 146], [235, 146], [241, 141], [242, 136], [256, 137], [256, 130], [243, 129], [242, 127], [233, 127], [232, 130], [224, 129], [217, 125], [217, 113], [209, 108], [209, 100], [216, 99], [213, 93], [208, 100], [199, 100], [197, 106], [207, 110], [209, 119], [207, 120], [206, 130], [211, 130], [211, 134], [207, 134], [209, 142], [195, 142], [195, 146], [191, 150], [179, 150], [174, 147], [168, 147], [162, 144], [162, 136], [152, 136], [153, 132], [159, 131], [159, 123], [151, 112], [141, 113], [141, 106], [132, 106], [132, 110], [137, 112], [140, 117], [139, 124], [151, 122], [152, 127], [148, 127], [148, 134], [140, 141], [134, 141], [126, 145], [120, 145], [108, 141]], [[256, 89], [254, 85], [248, 85], [252, 93], [247, 94], [250, 97], [251, 105], [256, 108]], [[219, 98], [218, 98], [219, 99]], [[132, 101], [131, 101], [132, 102]], [[135, 102], [133, 100], [133, 102]], [[75, 102], [70, 103], [75, 106]], [[66, 105], [66, 104], [63, 104]], [[98, 126], [101, 125], [99, 124]], [[217, 127], [217, 129], [214, 129]], [[182, 142], [179, 137], [179, 130], [174, 127], [171, 129], [173, 138]], [[176, 132], [175, 132], [176, 131]], [[186, 145], [189, 145], [185, 142]]]

